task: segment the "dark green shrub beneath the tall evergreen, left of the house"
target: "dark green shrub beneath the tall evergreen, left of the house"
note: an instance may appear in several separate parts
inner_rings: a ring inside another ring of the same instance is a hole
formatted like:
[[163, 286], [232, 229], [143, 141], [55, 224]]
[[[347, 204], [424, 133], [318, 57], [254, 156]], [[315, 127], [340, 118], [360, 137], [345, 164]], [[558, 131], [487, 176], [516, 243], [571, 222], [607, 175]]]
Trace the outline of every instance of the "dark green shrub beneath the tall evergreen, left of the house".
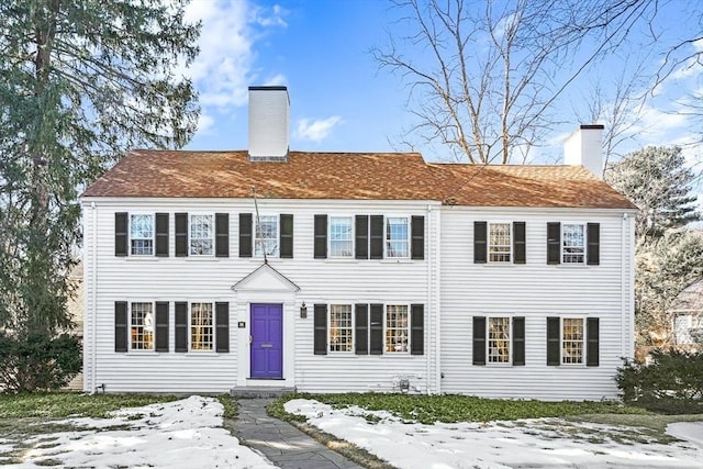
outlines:
[[0, 333], [0, 388], [5, 391], [44, 391], [62, 388], [81, 369], [76, 336], [49, 337]]

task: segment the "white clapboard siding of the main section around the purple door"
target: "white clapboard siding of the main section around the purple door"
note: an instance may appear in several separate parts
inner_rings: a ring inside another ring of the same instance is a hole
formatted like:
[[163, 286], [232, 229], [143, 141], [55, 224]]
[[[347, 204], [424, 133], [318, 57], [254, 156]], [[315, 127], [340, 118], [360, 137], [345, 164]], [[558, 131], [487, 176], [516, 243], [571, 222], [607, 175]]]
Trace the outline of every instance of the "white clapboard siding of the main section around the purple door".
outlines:
[[[94, 208], [91, 205], [94, 202]], [[435, 383], [436, 367], [431, 356], [335, 357], [314, 356], [313, 314], [316, 302], [360, 301], [369, 303], [425, 304], [425, 349], [433, 344], [429, 325], [432, 305], [427, 260], [337, 260], [313, 258], [315, 214], [425, 215], [424, 202], [335, 202], [259, 200], [259, 213], [293, 214], [293, 258], [269, 258], [269, 265], [295, 283], [297, 303], [303, 301], [311, 313], [294, 317], [294, 386], [303, 391], [391, 390], [393, 377], [412, 376], [412, 386], [427, 392], [428, 373]], [[85, 389], [104, 384], [108, 392], [223, 392], [236, 386], [244, 364], [237, 362], [237, 313], [242, 311], [232, 287], [263, 264], [261, 258], [238, 257], [238, 214], [255, 213], [250, 200], [104, 199], [83, 200], [86, 252], [86, 349]], [[114, 213], [169, 213], [169, 257], [114, 256]], [[174, 214], [228, 213], [230, 257], [175, 257]], [[438, 212], [432, 213], [437, 217]], [[434, 225], [438, 226], [438, 217]], [[93, 253], [96, 254], [93, 259]], [[93, 278], [94, 272], [97, 276]], [[436, 273], [434, 273], [436, 277]], [[435, 293], [435, 298], [438, 292]], [[168, 353], [114, 351], [115, 301], [169, 301]], [[174, 350], [174, 302], [230, 302], [230, 353]], [[261, 302], [266, 298], [260, 299]], [[287, 338], [288, 339], [288, 338]], [[97, 369], [93, 369], [97, 362]], [[246, 364], [248, 366], [248, 364]]]

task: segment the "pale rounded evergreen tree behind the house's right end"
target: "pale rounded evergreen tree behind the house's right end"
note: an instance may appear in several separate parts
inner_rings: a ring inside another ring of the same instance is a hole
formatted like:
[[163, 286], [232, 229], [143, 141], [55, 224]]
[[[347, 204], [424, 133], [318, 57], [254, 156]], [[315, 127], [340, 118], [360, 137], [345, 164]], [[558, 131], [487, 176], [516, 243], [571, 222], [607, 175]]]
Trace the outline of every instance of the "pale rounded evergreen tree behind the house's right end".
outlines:
[[701, 220], [692, 193], [696, 176], [677, 146], [631, 153], [605, 171], [605, 179], [639, 209], [638, 244]]

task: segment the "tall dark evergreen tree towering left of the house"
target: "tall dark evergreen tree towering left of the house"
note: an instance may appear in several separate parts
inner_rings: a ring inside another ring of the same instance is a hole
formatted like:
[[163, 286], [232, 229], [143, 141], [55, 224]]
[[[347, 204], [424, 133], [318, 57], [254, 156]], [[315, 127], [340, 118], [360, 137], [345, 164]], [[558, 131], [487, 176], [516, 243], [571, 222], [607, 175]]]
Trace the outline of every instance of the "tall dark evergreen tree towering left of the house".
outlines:
[[0, 3], [0, 331], [70, 327], [77, 196], [125, 150], [192, 136], [186, 0]]

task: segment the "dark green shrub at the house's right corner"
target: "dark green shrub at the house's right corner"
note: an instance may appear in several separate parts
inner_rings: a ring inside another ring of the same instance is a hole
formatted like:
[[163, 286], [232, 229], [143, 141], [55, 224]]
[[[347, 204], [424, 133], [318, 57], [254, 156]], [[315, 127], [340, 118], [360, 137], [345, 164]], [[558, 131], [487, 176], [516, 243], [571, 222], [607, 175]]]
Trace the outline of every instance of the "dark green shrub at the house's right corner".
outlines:
[[703, 351], [655, 350], [649, 365], [625, 360], [615, 380], [627, 404], [666, 414], [703, 413]]

